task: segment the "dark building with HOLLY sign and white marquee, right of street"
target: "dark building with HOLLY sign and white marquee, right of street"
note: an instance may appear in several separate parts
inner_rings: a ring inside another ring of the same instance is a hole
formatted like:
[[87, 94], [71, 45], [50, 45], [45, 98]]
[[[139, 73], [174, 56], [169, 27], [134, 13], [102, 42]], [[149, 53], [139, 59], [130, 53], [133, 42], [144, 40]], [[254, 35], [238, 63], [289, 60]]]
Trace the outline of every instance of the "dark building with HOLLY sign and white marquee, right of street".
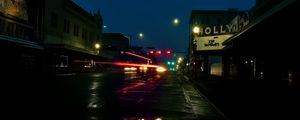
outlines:
[[223, 75], [222, 43], [240, 29], [237, 16], [241, 13], [235, 9], [192, 11], [188, 65], [193, 75]]

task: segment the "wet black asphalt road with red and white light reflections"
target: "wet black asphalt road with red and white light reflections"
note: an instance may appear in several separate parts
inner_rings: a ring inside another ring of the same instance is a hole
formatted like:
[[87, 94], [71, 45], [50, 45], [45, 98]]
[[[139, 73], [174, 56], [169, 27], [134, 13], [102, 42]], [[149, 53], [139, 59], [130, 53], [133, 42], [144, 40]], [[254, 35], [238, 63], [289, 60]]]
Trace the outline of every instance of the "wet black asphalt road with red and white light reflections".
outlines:
[[175, 72], [69, 73], [39, 86], [41, 118], [64, 120], [222, 120], [189, 82]]

